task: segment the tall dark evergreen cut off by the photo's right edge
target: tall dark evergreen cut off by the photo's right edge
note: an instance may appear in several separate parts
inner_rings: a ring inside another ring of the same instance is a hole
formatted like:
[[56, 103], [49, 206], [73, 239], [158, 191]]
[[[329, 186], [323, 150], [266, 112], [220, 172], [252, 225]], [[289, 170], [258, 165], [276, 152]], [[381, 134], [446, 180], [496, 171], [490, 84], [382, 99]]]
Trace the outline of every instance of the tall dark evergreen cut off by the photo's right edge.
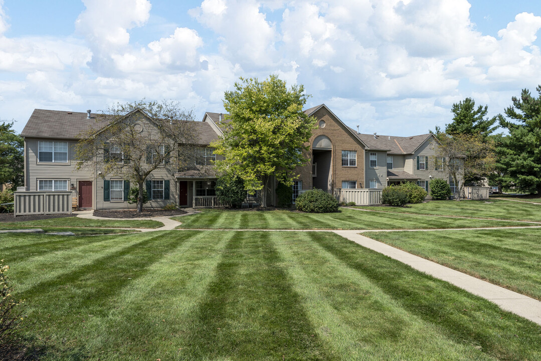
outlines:
[[505, 109], [510, 119], [500, 119], [500, 126], [509, 131], [498, 140], [500, 183], [519, 191], [541, 194], [541, 86], [538, 97], [527, 89], [520, 98], [513, 96], [513, 105]]

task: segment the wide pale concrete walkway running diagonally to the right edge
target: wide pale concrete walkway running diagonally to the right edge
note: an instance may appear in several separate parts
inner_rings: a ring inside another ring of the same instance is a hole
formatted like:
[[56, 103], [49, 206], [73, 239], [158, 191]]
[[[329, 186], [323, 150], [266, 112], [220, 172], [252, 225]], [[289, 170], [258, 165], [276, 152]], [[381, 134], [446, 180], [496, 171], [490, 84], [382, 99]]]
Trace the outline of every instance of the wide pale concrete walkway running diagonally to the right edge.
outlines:
[[365, 237], [358, 231], [334, 231], [363, 247], [385, 254], [392, 259], [398, 260], [411, 266], [415, 270], [425, 272], [435, 278], [447, 281], [467, 292], [483, 297], [505, 311], [518, 314], [541, 325], [541, 302], [524, 296], [523, 294], [507, 290], [506, 288], [493, 285], [489, 282], [472, 277], [471, 275], [452, 270], [451, 268], [418, 257], [411, 253], [401, 251], [398, 248], [386, 245], [371, 238]]

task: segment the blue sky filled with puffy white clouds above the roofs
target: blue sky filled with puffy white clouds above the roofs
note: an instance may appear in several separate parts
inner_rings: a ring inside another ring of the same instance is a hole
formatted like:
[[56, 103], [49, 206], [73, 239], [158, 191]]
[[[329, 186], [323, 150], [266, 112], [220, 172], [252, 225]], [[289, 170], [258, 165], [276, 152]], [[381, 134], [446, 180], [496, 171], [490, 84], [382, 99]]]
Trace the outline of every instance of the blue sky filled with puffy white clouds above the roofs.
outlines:
[[240, 76], [304, 84], [361, 132], [425, 133], [541, 79], [541, 2], [0, 0], [0, 119], [175, 99], [222, 111]]

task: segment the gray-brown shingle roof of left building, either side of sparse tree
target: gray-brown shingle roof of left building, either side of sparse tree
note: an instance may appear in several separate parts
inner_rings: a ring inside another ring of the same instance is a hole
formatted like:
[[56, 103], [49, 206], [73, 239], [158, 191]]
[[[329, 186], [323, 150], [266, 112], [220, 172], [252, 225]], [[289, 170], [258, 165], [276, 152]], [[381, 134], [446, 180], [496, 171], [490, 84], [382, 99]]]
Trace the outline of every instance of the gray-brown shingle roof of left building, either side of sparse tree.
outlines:
[[[90, 128], [99, 129], [108, 122], [101, 114], [78, 113], [76, 111], [35, 109], [21, 135], [24, 137], [77, 139], [77, 136]], [[218, 139], [210, 124], [190, 122], [194, 127], [195, 144], [208, 145]]]

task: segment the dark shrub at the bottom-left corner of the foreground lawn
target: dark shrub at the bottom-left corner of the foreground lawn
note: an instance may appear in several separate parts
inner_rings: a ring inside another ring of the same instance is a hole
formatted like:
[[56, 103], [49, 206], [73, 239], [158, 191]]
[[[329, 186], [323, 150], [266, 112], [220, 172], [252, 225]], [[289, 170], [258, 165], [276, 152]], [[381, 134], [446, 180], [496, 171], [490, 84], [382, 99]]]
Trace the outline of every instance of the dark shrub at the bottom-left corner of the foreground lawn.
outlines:
[[5, 266], [3, 262], [3, 259], [0, 260], [0, 358], [8, 359], [3, 357], [9, 353], [14, 332], [23, 321], [23, 300], [13, 298], [14, 286], [6, 276], [9, 266]]

